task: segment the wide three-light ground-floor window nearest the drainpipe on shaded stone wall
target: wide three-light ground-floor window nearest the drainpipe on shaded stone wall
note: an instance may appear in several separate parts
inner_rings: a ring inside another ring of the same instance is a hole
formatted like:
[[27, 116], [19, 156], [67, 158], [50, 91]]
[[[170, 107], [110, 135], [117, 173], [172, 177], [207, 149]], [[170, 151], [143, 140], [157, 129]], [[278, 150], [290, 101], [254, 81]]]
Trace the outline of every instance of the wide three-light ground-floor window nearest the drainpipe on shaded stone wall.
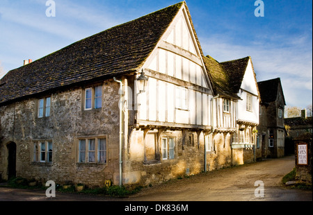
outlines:
[[106, 137], [79, 139], [79, 163], [106, 164]]

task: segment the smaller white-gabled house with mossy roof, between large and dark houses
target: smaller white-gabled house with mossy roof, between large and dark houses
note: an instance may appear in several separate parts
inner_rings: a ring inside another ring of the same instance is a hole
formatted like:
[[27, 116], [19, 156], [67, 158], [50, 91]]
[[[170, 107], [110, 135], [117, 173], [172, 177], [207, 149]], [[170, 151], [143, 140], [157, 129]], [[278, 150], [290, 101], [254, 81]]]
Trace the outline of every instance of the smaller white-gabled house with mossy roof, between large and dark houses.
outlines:
[[218, 62], [207, 55], [204, 62], [214, 87], [214, 137], [221, 135], [224, 147], [231, 148], [232, 164], [255, 161], [259, 89], [251, 58]]

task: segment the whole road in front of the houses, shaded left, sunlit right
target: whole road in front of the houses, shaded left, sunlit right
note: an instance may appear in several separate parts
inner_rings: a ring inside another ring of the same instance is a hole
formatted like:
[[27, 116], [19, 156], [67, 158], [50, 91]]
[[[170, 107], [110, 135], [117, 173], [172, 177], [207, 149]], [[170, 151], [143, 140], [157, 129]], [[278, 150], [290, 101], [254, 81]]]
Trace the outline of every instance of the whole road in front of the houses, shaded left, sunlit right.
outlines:
[[73, 193], [47, 198], [42, 190], [0, 187], [0, 201], [312, 201], [312, 191], [282, 186], [282, 177], [293, 168], [294, 156], [264, 160], [170, 180], [129, 198]]

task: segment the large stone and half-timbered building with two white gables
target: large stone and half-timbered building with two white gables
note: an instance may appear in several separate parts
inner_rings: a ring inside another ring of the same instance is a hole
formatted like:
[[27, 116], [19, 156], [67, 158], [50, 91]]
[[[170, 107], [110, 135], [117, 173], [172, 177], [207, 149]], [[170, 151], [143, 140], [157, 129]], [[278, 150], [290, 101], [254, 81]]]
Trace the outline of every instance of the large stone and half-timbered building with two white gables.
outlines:
[[183, 1], [9, 71], [0, 174], [153, 184], [252, 162], [258, 113], [250, 57], [204, 57]]

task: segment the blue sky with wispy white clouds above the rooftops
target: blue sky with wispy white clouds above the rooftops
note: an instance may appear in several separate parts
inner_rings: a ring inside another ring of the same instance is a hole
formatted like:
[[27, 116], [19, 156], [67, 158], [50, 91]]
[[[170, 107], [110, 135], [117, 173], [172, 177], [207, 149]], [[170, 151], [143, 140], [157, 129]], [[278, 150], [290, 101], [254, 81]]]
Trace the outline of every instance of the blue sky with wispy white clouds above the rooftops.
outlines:
[[[0, 78], [85, 37], [180, 0], [0, 1]], [[186, 0], [204, 55], [219, 62], [251, 56], [257, 80], [280, 77], [289, 106], [312, 105], [312, 0]]]

